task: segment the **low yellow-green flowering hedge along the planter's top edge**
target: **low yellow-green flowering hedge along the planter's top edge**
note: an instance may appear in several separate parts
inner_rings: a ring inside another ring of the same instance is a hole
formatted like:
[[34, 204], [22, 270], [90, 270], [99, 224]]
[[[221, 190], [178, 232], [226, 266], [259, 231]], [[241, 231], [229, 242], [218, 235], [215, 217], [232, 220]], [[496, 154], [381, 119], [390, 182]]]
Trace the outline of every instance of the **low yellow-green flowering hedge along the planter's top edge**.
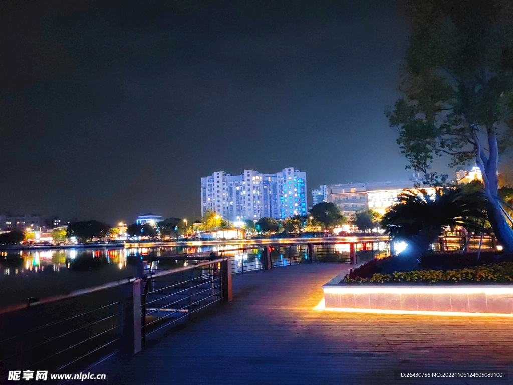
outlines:
[[421, 270], [412, 272], [395, 272], [393, 274], [374, 274], [371, 278], [344, 278], [344, 283], [355, 282], [416, 282], [416, 283], [475, 283], [513, 281], [513, 262], [494, 263], [489, 265], [466, 267], [454, 270]]

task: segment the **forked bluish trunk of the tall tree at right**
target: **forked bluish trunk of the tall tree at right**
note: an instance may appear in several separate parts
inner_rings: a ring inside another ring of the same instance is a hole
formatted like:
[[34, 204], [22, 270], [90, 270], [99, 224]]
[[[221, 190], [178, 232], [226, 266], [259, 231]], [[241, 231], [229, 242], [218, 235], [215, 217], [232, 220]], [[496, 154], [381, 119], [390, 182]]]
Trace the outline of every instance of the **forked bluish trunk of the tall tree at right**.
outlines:
[[513, 229], [511, 229], [506, 218], [504, 218], [499, 199], [499, 180], [497, 178], [499, 147], [497, 146], [497, 134], [494, 130], [488, 132], [489, 158], [486, 156], [477, 134], [475, 134], [474, 139], [477, 146], [476, 163], [483, 175], [488, 220], [499, 243], [506, 252], [511, 253], [513, 252]]

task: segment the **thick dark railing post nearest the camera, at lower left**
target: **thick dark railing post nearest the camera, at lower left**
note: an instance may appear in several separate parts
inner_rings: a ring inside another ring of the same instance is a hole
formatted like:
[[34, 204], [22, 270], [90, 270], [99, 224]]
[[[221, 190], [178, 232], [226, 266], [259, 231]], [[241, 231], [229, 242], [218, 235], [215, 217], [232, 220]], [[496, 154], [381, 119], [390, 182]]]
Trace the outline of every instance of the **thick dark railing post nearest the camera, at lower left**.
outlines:
[[122, 288], [121, 340], [123, 351], [130, 355], [141, 351], [141, 282], [137, 278]]

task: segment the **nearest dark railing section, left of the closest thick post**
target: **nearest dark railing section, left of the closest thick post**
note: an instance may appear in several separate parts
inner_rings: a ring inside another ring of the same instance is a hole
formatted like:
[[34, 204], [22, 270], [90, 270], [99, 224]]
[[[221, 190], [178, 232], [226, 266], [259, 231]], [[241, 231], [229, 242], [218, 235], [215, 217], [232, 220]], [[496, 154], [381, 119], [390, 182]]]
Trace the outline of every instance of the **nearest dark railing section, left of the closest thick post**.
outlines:
[[[140, 281], [140, 280], [139, 280]], [[135, 278], [0, 309], [0, 383], [8, 371], [71, 371], [120, 350]]]

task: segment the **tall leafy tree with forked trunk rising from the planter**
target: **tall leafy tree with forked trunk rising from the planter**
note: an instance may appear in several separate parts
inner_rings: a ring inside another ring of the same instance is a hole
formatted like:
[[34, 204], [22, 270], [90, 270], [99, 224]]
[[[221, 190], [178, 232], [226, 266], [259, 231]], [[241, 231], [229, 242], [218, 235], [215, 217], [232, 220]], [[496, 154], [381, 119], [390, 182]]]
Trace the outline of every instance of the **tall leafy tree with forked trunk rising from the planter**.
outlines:
[[[400, 90], [387, 112], [410, 168], [425, 182], [433, 156], [450, 166], [473, 159], [482, 171], [488, 219], [513, 252], [513, 230], [498, 195], [499, 151], [513, 132], [513, 7], [508, 0], [405, 0], [412, 34]], [[407, 168], [408, 168], [407, 167]]]

